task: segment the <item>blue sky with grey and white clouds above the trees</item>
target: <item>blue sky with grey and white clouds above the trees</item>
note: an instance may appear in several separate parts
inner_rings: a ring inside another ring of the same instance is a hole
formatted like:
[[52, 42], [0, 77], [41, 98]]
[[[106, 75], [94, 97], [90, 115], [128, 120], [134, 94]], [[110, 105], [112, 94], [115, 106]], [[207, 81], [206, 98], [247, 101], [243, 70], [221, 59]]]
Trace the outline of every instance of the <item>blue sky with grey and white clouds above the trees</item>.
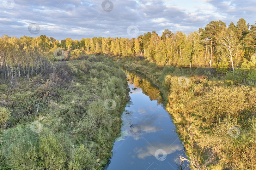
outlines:
[[185, 33], [212, 20], [256, 22], [256, 0], [0, 0], [0, 36], [62, 40]]

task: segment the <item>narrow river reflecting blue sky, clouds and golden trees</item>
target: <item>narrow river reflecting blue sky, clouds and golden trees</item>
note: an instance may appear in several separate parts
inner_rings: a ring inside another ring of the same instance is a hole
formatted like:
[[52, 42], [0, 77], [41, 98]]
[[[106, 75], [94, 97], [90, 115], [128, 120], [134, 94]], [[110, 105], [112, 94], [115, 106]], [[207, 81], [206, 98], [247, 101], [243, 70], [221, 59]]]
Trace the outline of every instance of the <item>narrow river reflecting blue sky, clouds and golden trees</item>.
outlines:
[[113, 156], [103, 169], [188, 169], [178, 159], [185, 156], [184, 147], [162, 105], [159, 88], [142, 75], [125, 73], [131, 100], [122, 113], [122, 132], [114, 143]]

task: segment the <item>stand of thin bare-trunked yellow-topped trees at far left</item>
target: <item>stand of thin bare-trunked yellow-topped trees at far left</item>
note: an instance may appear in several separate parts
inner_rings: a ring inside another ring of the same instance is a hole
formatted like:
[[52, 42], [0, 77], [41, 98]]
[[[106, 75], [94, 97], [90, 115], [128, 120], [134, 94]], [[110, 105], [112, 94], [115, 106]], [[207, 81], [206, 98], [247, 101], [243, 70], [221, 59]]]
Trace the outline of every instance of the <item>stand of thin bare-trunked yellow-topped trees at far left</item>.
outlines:
[[15, 77], [29, 79], [45, 73], [52, 60], [48, 40], [44, 35], [37, 38], [3, 35], [0, 38], [0, 77], [9, 79], [12, 84]]

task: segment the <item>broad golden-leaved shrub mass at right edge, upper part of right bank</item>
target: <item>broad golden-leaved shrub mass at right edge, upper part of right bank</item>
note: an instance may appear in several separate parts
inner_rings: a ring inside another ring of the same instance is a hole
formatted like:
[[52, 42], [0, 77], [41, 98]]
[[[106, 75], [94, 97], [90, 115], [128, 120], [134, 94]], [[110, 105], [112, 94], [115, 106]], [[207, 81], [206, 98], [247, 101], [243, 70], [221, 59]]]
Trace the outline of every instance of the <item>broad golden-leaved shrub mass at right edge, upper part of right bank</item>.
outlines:
[[198, 98], [198, 114], [209, 122], [217, 122], [226, 116], [240, 117], [242, 113], [254, 109], [256, 99], [252, 97], [255, 88], [214, 87]]

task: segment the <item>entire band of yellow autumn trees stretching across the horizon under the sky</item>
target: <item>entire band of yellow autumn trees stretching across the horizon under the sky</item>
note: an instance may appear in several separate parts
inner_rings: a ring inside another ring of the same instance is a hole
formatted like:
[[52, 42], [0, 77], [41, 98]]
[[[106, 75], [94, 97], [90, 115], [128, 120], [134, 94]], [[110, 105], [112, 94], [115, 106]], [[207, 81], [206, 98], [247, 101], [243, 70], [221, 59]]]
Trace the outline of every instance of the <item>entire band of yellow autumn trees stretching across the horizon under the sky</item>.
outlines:
[[[249, 29], [250, 27], [250, 29]], [[53, 37], [0, 38], [0, 77], [32, 77], [46, 71], [53, 51], [63, 48], [65, 58], [78, 59], [82, 54], [103, 53], [119, 57], [144, 56], [157, 65], [214, 66], [237, 68], [247, 60], [253, 61], [256, 46], [256, 25], [241, 18], [235, 25], [211, 21], [204, 29], [188, 33], [166, 29], [162, 36], [155, 31], [135, 38], [93, 37], [59, 42]], [[73, 51], [72, 51], [73, 50]], [[255, 61], [253, 61], [255, 63]]]

